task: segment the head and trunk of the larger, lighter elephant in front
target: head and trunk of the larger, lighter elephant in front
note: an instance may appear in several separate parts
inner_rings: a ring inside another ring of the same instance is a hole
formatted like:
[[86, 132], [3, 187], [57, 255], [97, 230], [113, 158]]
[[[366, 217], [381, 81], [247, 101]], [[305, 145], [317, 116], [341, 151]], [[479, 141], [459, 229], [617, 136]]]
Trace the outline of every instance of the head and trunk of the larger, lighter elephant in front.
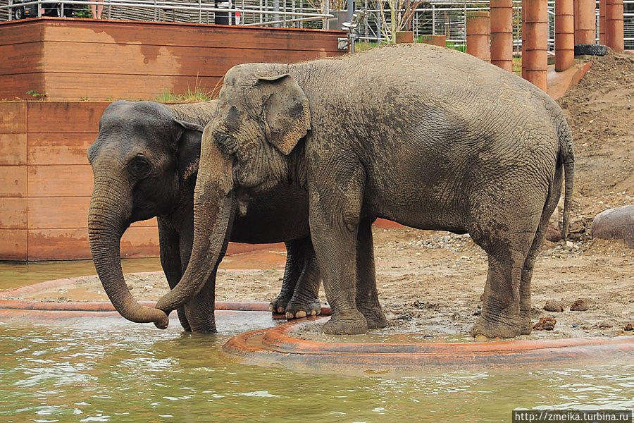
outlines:
[[225, 75], [216, 114], [203, 133], [192, 256], [178, 286], [157, 303], [163, 312], [185, 304], [213, 277], [242, 196], [290, 179], [292, 152], [310, 130], [311, 115], [297, 80], [278, 67], [240, 65]]

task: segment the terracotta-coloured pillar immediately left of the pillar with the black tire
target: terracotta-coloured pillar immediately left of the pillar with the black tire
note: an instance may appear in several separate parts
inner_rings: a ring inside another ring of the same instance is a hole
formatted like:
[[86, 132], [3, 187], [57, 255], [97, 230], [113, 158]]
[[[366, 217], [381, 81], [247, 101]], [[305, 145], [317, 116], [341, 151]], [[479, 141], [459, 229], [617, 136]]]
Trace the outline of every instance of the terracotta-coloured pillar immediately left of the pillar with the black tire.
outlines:
[[573, 0], [555, 0], [555, 71], [557, 72], [566, 71], [575, 61], [573, 10]]

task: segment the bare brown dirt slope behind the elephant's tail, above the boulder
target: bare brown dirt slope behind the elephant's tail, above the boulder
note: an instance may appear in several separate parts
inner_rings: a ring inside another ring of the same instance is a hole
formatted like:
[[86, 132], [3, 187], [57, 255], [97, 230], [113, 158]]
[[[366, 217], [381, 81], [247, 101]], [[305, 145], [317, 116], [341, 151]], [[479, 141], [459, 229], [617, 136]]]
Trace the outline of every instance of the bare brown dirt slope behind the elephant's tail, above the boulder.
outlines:
[[558, 103], [575, 141], [572, 229], [581, 238], [599, 212], [634, 203], [634, 54], [595, 57]]

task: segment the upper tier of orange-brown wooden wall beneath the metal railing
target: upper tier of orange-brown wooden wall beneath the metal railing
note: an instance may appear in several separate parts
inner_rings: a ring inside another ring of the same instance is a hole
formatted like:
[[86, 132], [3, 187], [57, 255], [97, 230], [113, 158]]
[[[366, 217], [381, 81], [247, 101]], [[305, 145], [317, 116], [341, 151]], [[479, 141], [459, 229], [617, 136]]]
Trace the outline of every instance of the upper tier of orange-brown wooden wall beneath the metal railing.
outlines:
[[336, 56], [340, 31], [38, 18], [0, 23], [0, 99], [156, 99], [211, 91], [239, 63]]

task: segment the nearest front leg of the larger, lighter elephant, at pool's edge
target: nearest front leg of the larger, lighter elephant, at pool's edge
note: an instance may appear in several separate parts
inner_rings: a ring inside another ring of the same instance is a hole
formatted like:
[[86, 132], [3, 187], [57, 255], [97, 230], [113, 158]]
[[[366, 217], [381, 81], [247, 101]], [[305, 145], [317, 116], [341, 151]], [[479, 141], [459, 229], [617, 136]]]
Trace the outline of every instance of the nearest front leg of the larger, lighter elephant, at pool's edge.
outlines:
[[323, 332], [366, 333], [366, 318], [356, 309], [356, 235], [364, 173], [352, 169], [351, 175], [347, 168], [338, 175], [332, 170], [324, 171], [322, 181], [309, 181], [311, 237], [332, 309]]

